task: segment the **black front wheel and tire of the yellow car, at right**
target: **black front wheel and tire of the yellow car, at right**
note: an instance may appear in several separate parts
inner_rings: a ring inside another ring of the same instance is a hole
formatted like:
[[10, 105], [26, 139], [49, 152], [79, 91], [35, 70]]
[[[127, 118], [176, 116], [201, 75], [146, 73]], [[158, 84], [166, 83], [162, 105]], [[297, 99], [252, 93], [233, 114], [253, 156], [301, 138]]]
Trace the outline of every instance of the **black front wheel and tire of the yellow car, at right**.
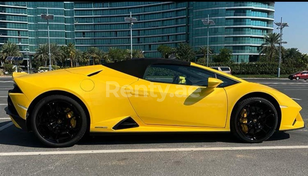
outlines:
[[[259, 109], [253, 106], [259, 106]], [[236, 105], [230, 120], [230, 130], [243, 142], [260, 143], [274, 134], [277, 124], [278, 114], [274, 105], [265, 98], [253, 97]]]

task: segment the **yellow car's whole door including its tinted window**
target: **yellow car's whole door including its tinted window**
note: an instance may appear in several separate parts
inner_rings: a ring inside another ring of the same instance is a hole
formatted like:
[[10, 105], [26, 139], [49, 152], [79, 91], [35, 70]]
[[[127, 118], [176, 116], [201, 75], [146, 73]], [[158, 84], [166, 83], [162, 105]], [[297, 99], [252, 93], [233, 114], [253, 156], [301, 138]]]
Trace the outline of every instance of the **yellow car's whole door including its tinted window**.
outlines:
[[146, 124], [225, 127], [224, 88], [207, 92], [207, 80], [214, 76], [193, 66], [152, 65], [144, 79], [127, 87], [128, 97]]

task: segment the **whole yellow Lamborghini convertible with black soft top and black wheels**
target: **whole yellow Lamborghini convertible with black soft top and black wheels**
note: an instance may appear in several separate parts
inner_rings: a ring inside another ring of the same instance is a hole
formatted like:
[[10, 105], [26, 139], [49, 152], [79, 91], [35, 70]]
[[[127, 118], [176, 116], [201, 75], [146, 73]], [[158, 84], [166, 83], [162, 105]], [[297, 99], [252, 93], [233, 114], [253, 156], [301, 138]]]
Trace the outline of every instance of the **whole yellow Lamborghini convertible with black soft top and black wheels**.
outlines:
[[87, 132], [229, 132], [244, 142], [304, 127], [294, 100], [193, 62], [131, 59], [43, 73], [13, 73], [6, 113], [51, 147]]

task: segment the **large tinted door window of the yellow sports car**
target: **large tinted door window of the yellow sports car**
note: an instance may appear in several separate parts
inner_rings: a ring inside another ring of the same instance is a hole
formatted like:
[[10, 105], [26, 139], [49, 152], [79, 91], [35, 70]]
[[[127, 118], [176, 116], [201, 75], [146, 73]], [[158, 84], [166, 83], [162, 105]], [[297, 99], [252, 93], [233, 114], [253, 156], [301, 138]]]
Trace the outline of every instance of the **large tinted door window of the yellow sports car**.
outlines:
[[208, 78], [214, 73], [191, 66], [152, 65], [144, 74], [144, 79], [152, 82], [164, 82], [183, 85], [207, 86]]

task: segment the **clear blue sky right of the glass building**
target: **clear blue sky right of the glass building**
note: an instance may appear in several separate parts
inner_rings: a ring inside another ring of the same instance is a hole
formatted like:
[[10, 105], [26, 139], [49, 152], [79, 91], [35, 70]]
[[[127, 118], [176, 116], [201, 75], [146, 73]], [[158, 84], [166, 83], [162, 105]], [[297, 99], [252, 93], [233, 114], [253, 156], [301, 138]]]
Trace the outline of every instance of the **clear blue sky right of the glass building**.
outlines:
[[[308, 54], [308, 2], [275, 2], [274, 22], [287, 22], [289, 27], [283, 29], [282, 44], [285, 48], [298, 48]], [[274, 25], [274, 32], [280, 33]]]

